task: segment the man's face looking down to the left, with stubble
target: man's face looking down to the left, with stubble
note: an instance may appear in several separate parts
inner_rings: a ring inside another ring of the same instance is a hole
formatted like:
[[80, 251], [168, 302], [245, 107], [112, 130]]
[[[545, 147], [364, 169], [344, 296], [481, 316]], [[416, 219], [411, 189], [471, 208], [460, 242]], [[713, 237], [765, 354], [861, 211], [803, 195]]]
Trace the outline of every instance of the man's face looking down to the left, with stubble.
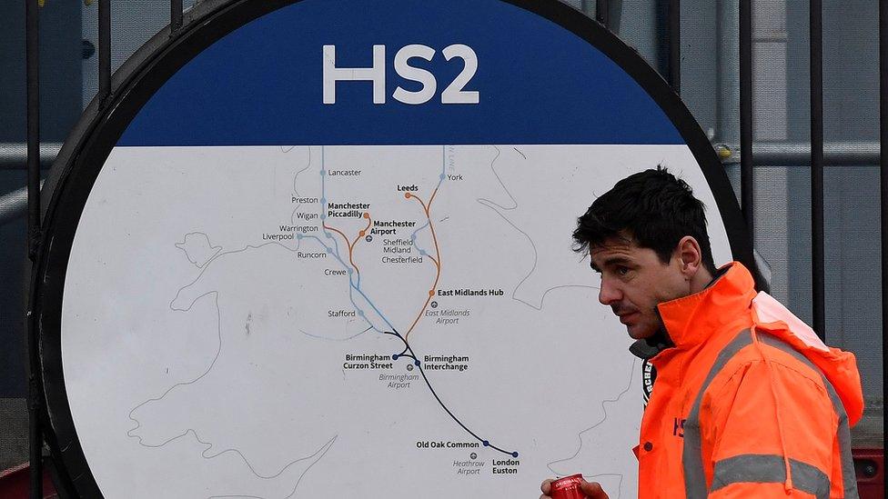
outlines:
[[647, 338], [660, 329], [657, 304], [691, 294], [679, 254], [663, 264], [656, 252], [631, 237], [614, 237], [590, 248], [590, 256], [601, 274], [599, 301], [620, 317], [632, 338]]

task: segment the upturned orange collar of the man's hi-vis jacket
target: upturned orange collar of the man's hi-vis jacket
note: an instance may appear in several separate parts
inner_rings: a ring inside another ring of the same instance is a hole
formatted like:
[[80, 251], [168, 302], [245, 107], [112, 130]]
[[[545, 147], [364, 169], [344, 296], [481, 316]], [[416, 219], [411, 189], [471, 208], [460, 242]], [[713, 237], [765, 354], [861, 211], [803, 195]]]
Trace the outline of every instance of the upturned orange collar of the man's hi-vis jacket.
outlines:
[[692, 348], [722, 326], [738, 319], [751, 320], [750, 304], [755, 297], [752, 274], [739, 262], [721, 267], [718, 274], [706, 289], [657, 305], [666, 334], [676, 347]]

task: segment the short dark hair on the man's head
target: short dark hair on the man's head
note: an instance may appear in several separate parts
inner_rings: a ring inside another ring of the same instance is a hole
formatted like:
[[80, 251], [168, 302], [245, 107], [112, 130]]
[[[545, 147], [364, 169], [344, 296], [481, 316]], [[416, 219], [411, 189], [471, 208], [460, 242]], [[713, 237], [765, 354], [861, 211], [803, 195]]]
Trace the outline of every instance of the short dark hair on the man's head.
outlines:
[[574, 251], [588, 254], [610, 238], [631, 236], [668, 264], [685, 235], [697, 240], [703, 266], [715, 274], [703, 204], [690, 185], [657, 166], [622, 179], [592, 203], [577, 219]]

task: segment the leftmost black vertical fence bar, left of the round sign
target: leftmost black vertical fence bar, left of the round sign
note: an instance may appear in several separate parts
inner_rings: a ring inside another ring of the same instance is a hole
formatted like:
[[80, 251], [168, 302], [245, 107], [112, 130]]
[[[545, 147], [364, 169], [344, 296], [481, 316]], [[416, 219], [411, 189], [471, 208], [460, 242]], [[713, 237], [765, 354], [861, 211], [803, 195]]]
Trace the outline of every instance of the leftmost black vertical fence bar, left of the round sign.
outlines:
[[[40, 24], [37, 0], [25, 0], [25, 81], [27, 140], [28, 258], [36, 259], [40, 241]], [[30, 497], [43, 497], [43, 434], [40, 428], [40, 392], [37, 384], [37, 340], [35, 321], [27, 321], [28, 345], [28, 454]]]

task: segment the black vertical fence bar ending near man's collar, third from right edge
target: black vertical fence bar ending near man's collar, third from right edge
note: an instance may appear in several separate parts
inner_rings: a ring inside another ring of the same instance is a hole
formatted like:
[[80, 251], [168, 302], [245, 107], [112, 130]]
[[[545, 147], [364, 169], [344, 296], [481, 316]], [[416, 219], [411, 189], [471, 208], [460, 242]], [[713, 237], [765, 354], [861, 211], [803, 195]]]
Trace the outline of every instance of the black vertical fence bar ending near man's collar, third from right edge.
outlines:
[[752, 1], [740, 0], [740, 198], [754, 245], [752, 194]]

